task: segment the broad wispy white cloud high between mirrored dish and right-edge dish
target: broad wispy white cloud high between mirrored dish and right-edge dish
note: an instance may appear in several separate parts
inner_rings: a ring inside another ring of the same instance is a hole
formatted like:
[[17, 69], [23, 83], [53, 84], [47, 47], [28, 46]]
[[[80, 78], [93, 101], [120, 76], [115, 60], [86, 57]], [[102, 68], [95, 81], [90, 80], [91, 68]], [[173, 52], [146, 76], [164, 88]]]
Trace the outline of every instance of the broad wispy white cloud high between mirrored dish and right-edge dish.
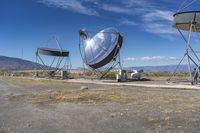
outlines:
[[[143, 31], [156, 34], [162, 38], [174, 40], [177, 31], [172, 28], [173, 12], [157, 9], [153, 2], [147, 0], [127, 0], [121, 2], [122, 6], [103, 4], [101, 9], [113, 13], [120, 13], [139, 18], [140, 24], [124, 18], [119, 25], [139, 25]], [[124, 4], [124, 5], [123, 5]], [[149, 7], [149, 8], [148, 8]], [[152, 9], [154, 7], [154, 9]]]

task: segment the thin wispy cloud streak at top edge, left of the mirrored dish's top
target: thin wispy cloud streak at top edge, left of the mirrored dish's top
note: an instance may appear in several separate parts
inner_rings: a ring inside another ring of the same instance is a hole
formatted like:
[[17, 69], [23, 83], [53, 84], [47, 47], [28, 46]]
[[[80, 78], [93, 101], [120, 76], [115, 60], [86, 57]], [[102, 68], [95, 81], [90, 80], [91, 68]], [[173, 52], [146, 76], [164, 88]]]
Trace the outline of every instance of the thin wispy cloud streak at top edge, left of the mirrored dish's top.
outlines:
[[[83, 1], [78, 0], [39, 0], [40, 3], [43, 3], [47, 6], [55, 6], [58, 8], [78, 12], [80, 14], [86, 14], [86, 15], [94, 15], [98, 16], [98, 12], [96, 12], [94, 9], [88, 8], [83, 5]], [[84, 2], [95, 2], [93, 0], [85, 0]]]

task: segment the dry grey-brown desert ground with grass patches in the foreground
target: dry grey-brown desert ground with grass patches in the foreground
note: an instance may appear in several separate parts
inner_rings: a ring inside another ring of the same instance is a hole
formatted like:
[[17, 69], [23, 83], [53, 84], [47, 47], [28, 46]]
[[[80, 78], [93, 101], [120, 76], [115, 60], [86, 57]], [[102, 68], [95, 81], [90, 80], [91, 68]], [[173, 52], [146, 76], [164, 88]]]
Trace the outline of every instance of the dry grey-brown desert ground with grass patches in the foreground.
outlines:
[[148, 84], [144, 81], [134, 82], [136, 86], [94, 82], [1, 77], [0, 132], [200, 132], [198, 86], [179, 89], [137, 86]]

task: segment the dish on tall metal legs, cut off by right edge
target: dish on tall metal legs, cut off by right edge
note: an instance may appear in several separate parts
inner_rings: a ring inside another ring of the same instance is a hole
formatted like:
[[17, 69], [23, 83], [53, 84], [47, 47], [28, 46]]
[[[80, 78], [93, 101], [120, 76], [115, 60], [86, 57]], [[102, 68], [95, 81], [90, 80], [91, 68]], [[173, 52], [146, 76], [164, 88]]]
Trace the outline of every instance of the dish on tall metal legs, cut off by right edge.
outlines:
[[[186, 81], [190, 81], [191, 84], [198, 83], [199, 79], [196, 79], [196, 75], [200, 73], [200, 57], [197, 52], [197, 47], [192, 47], [192, 43], [194, 40], [199, 40], [199, 32], [200, 32], [200, 9], [199, 4], [195, 4], [197, 0], [185, 0], [181, 4], [179, 10], [174, 14], [173, 27], [178, 29], [182, 39], [185, 42], [185, 52], [174, 72], [168, 79], [169, 81], [172, 77], [176, 76], [178, 69], [184, 59], [187, 60], [188, 66], [188, 77]], [[191, 5], [193, 5], [191, 7]], [[197, 9], [195, 9], [197, 8]]]

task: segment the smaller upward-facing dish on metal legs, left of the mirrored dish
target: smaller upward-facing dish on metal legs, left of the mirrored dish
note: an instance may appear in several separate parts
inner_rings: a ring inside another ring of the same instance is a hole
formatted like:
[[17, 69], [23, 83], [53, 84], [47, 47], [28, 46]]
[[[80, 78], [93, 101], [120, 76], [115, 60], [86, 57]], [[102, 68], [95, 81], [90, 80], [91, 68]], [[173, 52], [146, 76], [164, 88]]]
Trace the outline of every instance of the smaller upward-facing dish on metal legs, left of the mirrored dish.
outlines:
[[[36, 63], [41, 64], [40, 68], [36, 70], [42, 70], [47, 73], [48, 76], [54, 77], [58, 72], [67, 72], [71, 68], [71, 62], [69, 59], [69, 51], [63, 50], [57, 39], [53, 36], [47, 41], [56, 42], [58, 48], [40, 47], [36, 50]], [[38, 75], [38, 74], [36, 74]]]

